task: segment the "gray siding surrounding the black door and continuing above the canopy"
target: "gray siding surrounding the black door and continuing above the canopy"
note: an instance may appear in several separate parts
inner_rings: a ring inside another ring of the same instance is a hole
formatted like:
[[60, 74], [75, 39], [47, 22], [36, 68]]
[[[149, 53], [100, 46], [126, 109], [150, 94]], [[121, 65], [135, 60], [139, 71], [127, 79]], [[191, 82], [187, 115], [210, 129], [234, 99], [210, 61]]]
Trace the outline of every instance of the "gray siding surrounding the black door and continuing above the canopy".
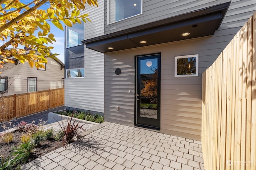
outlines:
[[[144, 0], [142, 15], [105, 25], [105, 34], [223, 2], [228, 1]], [[232, 0], [226, 17], [213, 36], [106, 53], [105, 119], [134, 125], [134, 56], [160, 52], [161, 132], [201, 140], [202, 72], [212, 65], [254, 11], [255, 0]], [[199, 55], [199, 76], [174, 77], [174, 57], [192, 54]], [[115, 74], [116, 68], [121, 69], [120, 75]], [[119, 111], [116, 106], [120, 107]]]

